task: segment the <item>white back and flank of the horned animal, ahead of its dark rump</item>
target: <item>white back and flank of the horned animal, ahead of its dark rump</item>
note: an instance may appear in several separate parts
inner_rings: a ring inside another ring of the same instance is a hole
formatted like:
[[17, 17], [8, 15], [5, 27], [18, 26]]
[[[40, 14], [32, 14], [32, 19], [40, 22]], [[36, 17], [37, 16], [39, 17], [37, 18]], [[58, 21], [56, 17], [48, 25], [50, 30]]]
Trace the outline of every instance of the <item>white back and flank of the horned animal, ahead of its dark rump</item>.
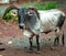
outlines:
[[38, 11], [41, 20], [41, 32], [54, 30], [57, 25], [62, 11], [57, 9]]

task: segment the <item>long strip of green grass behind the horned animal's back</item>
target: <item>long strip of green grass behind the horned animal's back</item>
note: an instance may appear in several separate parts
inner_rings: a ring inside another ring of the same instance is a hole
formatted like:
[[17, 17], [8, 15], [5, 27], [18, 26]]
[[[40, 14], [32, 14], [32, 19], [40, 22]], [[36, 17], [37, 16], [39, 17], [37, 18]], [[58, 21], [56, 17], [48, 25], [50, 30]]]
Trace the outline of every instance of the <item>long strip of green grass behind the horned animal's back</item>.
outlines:
[[35, 7], [37, 8], [37, 10], [51, 10], [58, 8], [58, 3], [55, 1], [44, 3], [34, 2], [34, 3], [22, 4], [22, 7]]

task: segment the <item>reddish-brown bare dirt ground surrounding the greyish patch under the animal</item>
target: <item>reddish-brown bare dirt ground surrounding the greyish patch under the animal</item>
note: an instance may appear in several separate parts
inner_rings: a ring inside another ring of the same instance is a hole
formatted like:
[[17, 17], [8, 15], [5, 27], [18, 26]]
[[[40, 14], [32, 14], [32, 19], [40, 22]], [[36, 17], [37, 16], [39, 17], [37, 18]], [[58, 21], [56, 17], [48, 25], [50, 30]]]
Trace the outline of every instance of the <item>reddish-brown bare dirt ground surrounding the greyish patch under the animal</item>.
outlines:
[[[66, 7], [62, 9], [66, 13]], [[66, 21], [63, 25], [62, 32], [64, 31], [66, 37]], [[51, 33], [52, 35], [52, 33]], [[42, 36], [46, 36], [42, 34]], [[4, 42], [14, 37], [23, 37], [22, 30], [19, 29], [18, 23], [14, 22], [12, 24], [4, 24], [0, 21], [0, 41]], [[41, 54], [36, 53], [26, 53], [24, 49], [15, 49], [8, 47], [6, 44], [0, 45], [0, 48], [6, 48], [4, 51], [0, 51], [0, 56], [66, 56], [66, 46], [56, 46], [54, 51], [50, 47], [44, 47]]]

